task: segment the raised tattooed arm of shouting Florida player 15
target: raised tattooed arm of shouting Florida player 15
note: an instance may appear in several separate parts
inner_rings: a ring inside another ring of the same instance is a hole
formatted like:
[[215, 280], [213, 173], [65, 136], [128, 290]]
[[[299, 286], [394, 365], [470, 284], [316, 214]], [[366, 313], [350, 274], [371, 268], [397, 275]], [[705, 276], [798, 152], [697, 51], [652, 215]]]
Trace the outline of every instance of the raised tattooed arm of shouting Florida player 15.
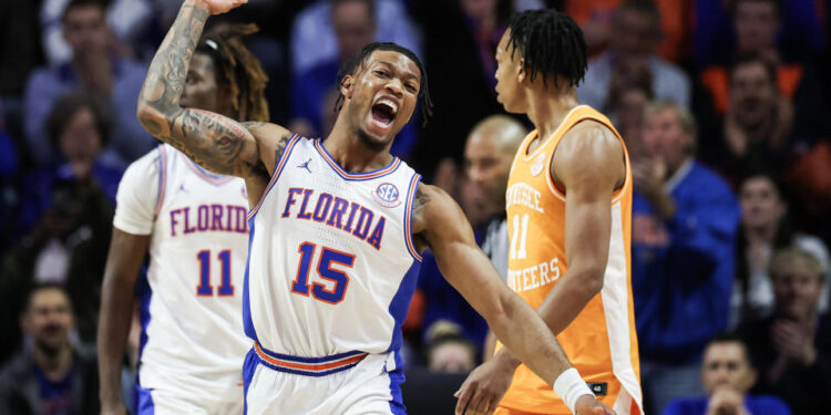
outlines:
[[[205, 21], [240, 0], [187, 0], [151, 62], [138, 97], [138, 120], [154, 136], [201, 166], [244, 178], [268, 178], [288, 132], [274, 124], [240, 124], [226, 116], [179, 106], [187, 69]], [[249, 191], [250, 193], [250, 191]], [[254, 195], [252, 195], [254, 196]]]

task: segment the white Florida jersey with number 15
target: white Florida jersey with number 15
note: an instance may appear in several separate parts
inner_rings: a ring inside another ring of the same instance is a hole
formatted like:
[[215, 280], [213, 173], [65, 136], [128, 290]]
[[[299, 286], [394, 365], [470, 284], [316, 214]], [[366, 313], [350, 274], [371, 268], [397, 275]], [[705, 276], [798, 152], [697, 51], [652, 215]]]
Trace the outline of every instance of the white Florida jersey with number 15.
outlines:
[[347, 173], [321, 141], [293, 137], [248, 215], [246, 334], [290, 356], [398, 351], [421, 266], [419, 180], [398, 158]]

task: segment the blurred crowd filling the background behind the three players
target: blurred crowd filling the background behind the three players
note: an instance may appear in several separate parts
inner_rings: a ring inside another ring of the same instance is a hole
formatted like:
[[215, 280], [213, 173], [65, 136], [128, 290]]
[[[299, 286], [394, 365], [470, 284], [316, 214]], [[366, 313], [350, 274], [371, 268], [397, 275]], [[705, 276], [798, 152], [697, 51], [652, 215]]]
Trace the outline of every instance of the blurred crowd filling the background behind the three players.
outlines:
[[[66, 402], [94, 413], [78, 405], [98, 400], [91, 350], [115, 193], [157, 144], [136, 98], [179, 6], [0, 2], [0, 413], [18, 413], [20, 396], [35, 413], [70, 413]], [[269, 76], [271, 121], [307, 137], [331, 128], [349, 55], [373, 40], [416, 51], [434, 115], [424, 124], [417, 111], [392, 152], [454, 195], [499, 258], [507, 169], [530, 124], [496, 102], [494, 51], [512, 12], [542, 7], [583, 29], [578, 98], [609, 116], [632, 156], [648, 413], [736, 393], [828, 413], [831, 1], [249, 0], [207, 30], [259, 27], [246, 44]], [[411, 413], [452, 404], [488, 326], [429, 255], [403, 329]]]

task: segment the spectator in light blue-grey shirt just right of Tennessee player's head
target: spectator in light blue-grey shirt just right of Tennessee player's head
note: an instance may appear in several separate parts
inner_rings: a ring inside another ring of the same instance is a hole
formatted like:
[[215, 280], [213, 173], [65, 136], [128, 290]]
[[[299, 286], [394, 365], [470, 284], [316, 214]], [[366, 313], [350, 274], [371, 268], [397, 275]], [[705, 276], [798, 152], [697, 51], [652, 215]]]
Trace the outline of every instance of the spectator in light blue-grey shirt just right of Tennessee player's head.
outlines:
[[660, 12], [655, 3], [624, 1], [615, 12], [608, 51], [588, 63], [585, 82], [577, 87], [579, 101], [605, 112], [615, 85], [647, 76], [656, 98], [689, 105], [689, 79], [678, 66], [655, 55], [659, 39]]

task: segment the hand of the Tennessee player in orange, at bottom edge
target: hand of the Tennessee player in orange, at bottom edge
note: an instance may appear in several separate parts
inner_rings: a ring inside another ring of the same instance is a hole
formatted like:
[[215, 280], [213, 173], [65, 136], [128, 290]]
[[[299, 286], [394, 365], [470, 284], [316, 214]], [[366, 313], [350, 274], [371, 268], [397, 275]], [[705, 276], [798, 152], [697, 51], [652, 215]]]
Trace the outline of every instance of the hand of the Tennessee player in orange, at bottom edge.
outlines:
[[473, 370], [464, 380], [462, 387], [453, 396], [456, 415], [490, 415], [505, 396], [511, 386], [516, 367], [506, 365], [500, 359], [491, 359]]

